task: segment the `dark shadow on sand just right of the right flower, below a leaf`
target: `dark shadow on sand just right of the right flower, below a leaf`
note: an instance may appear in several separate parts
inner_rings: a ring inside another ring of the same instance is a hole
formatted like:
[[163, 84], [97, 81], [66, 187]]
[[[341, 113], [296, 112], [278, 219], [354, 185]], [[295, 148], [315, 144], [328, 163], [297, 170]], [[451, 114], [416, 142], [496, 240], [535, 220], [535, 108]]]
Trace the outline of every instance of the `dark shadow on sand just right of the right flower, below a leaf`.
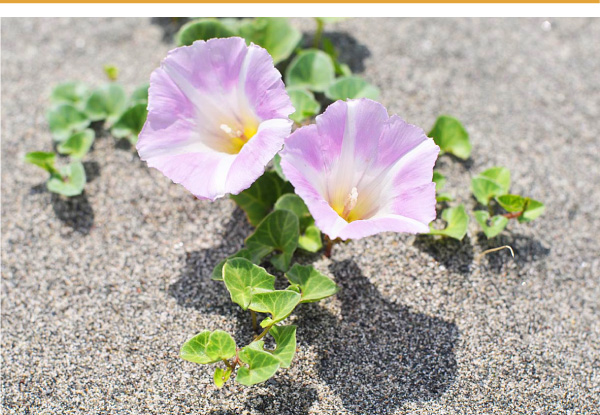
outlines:
[[414, 246], [453, 272], [470, 275], [473, 269], [473, 245], [468, 235], [457, 241], [433, 235], [417, 235]]

